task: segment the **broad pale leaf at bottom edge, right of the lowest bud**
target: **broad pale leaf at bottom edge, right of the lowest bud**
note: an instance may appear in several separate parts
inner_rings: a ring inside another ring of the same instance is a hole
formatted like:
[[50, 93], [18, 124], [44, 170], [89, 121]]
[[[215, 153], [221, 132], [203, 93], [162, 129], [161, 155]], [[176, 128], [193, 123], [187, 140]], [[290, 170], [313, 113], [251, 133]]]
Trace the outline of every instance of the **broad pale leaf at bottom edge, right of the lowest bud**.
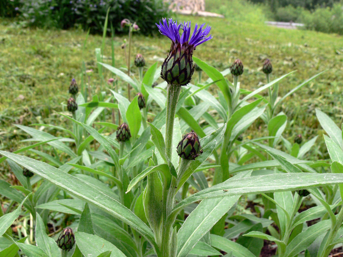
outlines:
[[97, 235], [75, 232], [75, 242], [84, 256], [98, 256], [112, 251], [111, 257], [126, 257], [116, 246]]

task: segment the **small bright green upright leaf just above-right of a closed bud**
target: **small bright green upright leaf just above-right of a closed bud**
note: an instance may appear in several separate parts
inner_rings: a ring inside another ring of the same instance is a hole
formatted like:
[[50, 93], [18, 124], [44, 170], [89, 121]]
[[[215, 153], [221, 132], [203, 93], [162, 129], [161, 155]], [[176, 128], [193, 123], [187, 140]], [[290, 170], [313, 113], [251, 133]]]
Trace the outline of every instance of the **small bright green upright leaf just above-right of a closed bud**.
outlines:
[[129, 129], [133, 142], [136, 140], [138, 131], [141, 127], [142, 114], [138, 106], [138, 96], [133, 98], [126, 111], [126, 120], [128, 121]]

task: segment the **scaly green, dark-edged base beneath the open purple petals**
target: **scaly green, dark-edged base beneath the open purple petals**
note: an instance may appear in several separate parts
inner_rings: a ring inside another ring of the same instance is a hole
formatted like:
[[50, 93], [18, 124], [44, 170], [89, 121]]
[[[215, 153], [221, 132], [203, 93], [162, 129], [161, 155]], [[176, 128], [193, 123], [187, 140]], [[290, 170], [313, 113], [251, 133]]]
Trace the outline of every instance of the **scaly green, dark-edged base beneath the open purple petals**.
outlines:
[[161, 77], [171, 85], [186, 86], [194, 73], [192, 54], [193, 47], [188, 42], [172, 42], [168, 57], [162, 64]]

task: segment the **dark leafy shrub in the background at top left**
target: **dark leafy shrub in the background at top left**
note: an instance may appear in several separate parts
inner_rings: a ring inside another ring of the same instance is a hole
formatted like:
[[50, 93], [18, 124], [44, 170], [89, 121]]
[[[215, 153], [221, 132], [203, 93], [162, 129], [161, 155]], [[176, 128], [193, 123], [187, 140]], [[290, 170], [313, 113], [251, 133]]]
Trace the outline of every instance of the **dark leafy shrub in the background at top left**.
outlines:
[[120, 21], [125, 18], [136, 22], [145, 35], [156, 33], [155, 22], [168, 15], [162, 0], [21, 0], [21, 3], [19, 11], [31, 26], [67, 29], [80, 24], [93, 34], [103, 32], [108, 8], [108, 19], [116, 33], [123, 31]]

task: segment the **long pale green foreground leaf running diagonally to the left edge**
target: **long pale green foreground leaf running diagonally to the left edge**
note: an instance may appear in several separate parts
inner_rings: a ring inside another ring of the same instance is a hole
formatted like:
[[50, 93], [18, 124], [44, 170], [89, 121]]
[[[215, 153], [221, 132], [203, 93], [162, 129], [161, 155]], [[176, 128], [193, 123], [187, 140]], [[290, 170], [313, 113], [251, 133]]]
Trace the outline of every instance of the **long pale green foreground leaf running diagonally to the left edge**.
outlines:
[[114, 217], [131, 225], [155, 246], [154, 236], [147, 225], [115, 199], [103, 194], [98, 189], [81, 181], [80, 179], [44, 162], [5, 151], [0, 151], [0, 154], [7, 156], [35, 174], [47, 179], [56, 186], [69, 192], [71, 195], [83, 199], [87, 203], [93, 204], [110, 215], [113, 215]]

